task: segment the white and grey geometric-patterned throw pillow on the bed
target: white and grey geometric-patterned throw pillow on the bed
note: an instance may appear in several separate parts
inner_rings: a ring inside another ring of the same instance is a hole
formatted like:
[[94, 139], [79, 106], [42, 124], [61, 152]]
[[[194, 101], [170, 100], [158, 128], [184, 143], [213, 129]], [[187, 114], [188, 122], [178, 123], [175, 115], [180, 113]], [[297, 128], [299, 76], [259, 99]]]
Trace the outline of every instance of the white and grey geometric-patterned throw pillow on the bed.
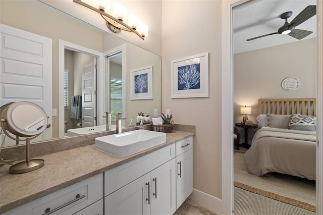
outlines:
[[289, 123], [289, 129], [301, 130], [301, 131], [315, 131], [316, 130], [316, 117], [305, 117], [299, 116], [291, 117]]

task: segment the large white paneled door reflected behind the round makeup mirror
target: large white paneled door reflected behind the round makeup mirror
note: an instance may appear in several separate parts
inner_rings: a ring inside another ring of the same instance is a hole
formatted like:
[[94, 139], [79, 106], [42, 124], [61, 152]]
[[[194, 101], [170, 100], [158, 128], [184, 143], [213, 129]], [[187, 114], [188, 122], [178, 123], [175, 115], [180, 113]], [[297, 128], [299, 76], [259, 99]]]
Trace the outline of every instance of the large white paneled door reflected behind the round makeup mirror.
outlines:
[[[3, 24], [0, 33], [0, 106], [31, 101], [46, 112], [52, 125], [51, 39]], [[49, 138], [52, 126], [37, 140]]]

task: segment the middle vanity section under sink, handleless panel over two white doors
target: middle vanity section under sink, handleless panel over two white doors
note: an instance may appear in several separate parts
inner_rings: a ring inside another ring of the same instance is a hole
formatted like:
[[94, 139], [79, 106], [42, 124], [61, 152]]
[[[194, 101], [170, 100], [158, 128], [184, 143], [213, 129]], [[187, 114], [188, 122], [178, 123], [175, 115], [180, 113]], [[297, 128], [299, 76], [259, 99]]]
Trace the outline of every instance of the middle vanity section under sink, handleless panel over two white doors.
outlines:
[[104, 173], [104, 213], [173, 214], [176, 211], [175, 144]]

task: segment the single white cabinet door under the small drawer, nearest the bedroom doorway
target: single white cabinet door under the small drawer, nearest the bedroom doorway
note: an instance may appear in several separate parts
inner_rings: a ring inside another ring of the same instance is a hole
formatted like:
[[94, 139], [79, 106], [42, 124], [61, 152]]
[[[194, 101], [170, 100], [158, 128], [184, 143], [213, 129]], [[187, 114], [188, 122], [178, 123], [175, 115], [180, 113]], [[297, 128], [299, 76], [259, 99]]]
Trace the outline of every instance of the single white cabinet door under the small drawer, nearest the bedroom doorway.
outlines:
[[193, 191], [193, 149], [176, 157], [176, 209]]

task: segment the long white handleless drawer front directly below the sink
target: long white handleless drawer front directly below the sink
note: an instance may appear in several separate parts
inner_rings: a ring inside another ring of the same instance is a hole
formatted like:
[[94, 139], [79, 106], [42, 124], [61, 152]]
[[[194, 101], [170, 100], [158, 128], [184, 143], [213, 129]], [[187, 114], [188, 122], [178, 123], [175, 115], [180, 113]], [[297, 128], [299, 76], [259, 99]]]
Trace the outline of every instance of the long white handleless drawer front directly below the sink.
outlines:
[[104, 173], [104, 196], [129, 184], [175, 157], [175, 143]]

